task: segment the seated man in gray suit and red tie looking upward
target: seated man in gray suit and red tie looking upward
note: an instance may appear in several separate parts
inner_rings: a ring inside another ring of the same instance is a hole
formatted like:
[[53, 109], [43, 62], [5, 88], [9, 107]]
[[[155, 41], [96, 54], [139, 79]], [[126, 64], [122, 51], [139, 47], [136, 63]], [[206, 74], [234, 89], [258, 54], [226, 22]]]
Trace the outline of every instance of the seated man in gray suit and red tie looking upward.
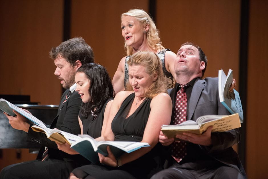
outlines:
[[[206, 65], [206, 55], [199, 46], [190, 42], [182, 44], [174, 64], [177, 84], [170, 93], [171, 124], [184, 121], [183, 115], [186, 120], [195, 121], [202, 115], [230, 114], [220, 103], [218, 78], [202, 79]], [[176, 139], [168, 138], [161, 131], [159, 142], [166, 146], [166, 167], [169, 168], [152, 178], [246, 178], [238, 155], [232, 149], [240, 140], [239, 129], [222, 133], [211, 133], [211, 129], [209, 127], [202, 135], [178, 134]]]

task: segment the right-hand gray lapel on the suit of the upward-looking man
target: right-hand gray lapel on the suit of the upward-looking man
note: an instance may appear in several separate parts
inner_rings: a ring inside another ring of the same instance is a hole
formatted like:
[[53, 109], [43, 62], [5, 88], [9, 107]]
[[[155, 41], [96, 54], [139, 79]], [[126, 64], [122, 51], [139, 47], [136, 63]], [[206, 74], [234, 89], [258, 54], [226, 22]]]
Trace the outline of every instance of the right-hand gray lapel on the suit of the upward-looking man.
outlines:
[[201, 92], [205, 86], [205, 80], [204, 79], [197, 79], [191, 93], [190, 97], [190, 104], [189, 104], [189, 110], [188, 110], [188, 120], [192, 119], [192, 116], [194, 114], [198, 99], [201, 95]]

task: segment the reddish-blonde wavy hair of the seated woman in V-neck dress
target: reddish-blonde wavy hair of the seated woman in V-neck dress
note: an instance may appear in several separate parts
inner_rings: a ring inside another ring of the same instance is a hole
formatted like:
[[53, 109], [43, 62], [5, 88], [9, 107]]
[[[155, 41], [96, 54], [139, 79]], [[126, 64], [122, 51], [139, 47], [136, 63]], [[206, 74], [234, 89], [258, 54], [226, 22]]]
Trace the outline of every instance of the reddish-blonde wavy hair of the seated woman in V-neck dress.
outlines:
[[[162, 69], [162, 63], [154, 52], [139, 51], [133, 54], [127, 61], [129, 66], [142, 65], [145, 67], [147, 74], [151, 77], [156, 73], [157, 79], [145, 92], [145, 97], [153, 98], [159, 93], [167, 93], [167, 85], [165, 84], [165, 77]], [[132, 86], [127, 84], [127, 91], [133, 91]]]

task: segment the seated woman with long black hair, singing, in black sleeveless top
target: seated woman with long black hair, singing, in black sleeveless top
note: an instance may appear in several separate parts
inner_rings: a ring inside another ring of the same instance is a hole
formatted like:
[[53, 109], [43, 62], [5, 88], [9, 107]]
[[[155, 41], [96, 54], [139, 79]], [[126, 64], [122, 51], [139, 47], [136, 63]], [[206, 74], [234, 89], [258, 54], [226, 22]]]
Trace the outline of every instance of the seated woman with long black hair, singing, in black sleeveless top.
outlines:
[[[75, 91], [83, 101], [78, 116], [81, 134], [98, 138], [103, 135], [115, 95], [109, 74], [100, 64], [87, 63], [77, 70], [75, 81]], [[78, 154], [67, 143], [58, 144], [58, 149], [68, 154]]]

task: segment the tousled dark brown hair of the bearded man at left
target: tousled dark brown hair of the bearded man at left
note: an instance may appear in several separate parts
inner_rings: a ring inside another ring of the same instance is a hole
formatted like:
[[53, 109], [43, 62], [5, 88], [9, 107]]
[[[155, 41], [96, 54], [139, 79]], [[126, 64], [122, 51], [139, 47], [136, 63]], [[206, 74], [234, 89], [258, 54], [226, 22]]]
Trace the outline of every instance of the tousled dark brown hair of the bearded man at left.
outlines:
[[94, 62], [93, 50], [82, 37], [71, 38], [50, 50], [49, 57], [52, 60], [59, 56], [65, 58], [72, 66], [76, 65], [76, 60], [80, 60], [82, 65]]

